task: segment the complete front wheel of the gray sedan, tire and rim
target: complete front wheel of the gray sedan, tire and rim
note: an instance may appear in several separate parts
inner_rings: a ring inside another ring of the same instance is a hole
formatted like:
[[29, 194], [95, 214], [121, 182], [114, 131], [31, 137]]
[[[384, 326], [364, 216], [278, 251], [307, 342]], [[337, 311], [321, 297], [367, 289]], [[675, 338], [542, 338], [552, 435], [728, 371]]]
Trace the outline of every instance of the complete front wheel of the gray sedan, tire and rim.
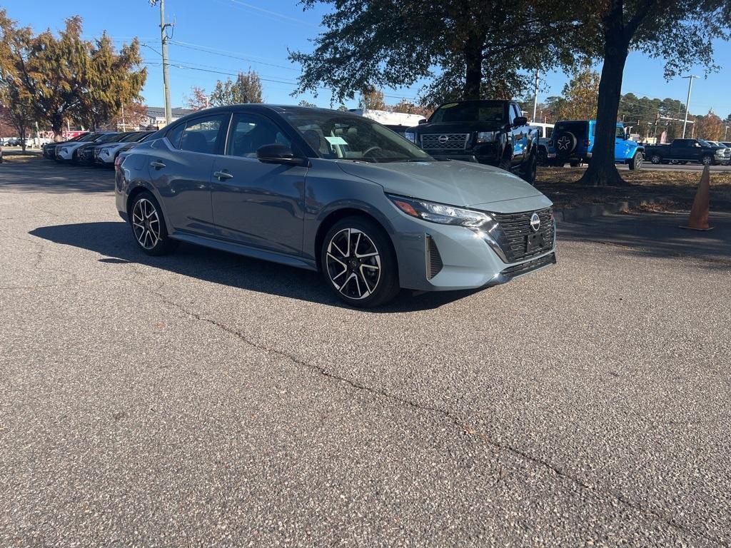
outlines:
[[342, 218], [330, 227], [322, 240], [320, 266], [330, 290], [357, 308], [383, 305], [401, 289], [390, 239], [365, 217]]

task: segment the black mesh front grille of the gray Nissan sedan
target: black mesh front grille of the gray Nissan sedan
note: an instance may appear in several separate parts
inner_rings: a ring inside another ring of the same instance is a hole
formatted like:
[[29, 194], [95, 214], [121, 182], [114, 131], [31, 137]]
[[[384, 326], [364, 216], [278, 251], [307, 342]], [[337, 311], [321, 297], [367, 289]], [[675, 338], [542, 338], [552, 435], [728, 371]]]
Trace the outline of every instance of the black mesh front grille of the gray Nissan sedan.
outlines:
[[[538, 213], [541, 225], [537, 232], [531, 229], [531, 216]], [[545, 208], [538, 211], [523, 211], [521, 213], [491, 213], [491, 216], [498, 221], [500, 228], [503, 230], [505, 239], [503, 251], [507, 258], [507, 262], [518, 262], [530, 257], [545, 253], [553, 247], [553, 210]], [[541, 234], [543, 236], [543, 246], [531, 248], [527, 250], [527, 237]]]

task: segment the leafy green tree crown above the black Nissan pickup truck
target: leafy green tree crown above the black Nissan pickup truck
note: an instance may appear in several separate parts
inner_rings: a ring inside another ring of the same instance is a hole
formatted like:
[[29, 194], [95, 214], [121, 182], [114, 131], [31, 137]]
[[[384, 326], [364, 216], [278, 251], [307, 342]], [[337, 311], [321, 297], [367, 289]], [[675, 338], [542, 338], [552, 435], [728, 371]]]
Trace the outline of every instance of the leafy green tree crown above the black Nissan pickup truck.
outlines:
[[[324, 85], [341, 101], [368, 85], [399, 87], [421, 78], [423, 96], [478, 99], [520, 94], [530, 76], [520, 67], [542, 69], [573, 58], [556, 36], [573, 32], [565, 6], [550, 0], [301, 0], [327, 4], [325, 31], [311, 53], [290, 52], [302, 65], [296, 93]], [[569, 43], [577, 43], [573, 40]]]

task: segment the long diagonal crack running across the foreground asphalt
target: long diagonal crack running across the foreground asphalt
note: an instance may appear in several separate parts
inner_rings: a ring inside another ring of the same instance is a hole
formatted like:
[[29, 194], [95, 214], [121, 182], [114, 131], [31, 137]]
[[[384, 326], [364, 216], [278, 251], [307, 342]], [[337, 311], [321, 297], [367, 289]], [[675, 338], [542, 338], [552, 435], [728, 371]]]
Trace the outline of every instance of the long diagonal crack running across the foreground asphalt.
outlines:
[[306, 362], [303, 359], [293, 356], [292, 354], [287, 354], [287, 352], [285, 352], [285, 351], [281, 351], [279, 349], [275, 349], [270, 346], [265, 346], [260, 343], [256, 343], [252, 340], [249, 340], [249, 338], [246, 338], [246, 336], [243, 335], [238, 330], [228, 327], [226, 324], [222, 324], [220, 321], [216, 321], [215, 319], [211, 319], [211, 318], [202, 316], [200, 313], [191, 311], [188, 308], [185, 308], [183, 305], [180, 305], [178, 302], [170, 300], [166, 295], [164, 295], [156, 290], [156, 289], [160, 289], [162, 287], [162, 283], [160, 283], [159, 286], [157, 286], [155, 289], [152, 289], [149, 286], [143, 285], [143, 283], [140, 283], [139, 281], [136, 281], [136, 280], [131, 280], [131, 281], [136, 283], [138, 286], [142, 287], [143, 289], [145, 289], [145, 291], [156, 295], [156, 297], [159, 297], [159, 299], [162, 300], [162, 303], [164, 303], [166, 305], [170, 305], [173, 308], [176, 308], [178, 311], [181, 311], [186, 316], [190, 316], [190, 317], [196, 319], [197, 321], [204, 321], [208, 324], [211, 324], [214, 327], [217, 327], [219, 330], [222, 330], [224, 332], [227, 332], [230, 335], [233, 335], [235, 338], [238, 338], [243, 343], [245, 343], [255, 349], [265, 351], [269, 354], [275, 354], [276, 356], [283, 357], [284, 359], [288, 359], [289, 361], [294, 362], [295, 364], [300, 365], [303, 368], [311, 370], [314, 373], [318, 373], [321, 376], [331, 378], [335, 381], [343, 382], [343, 383], [347, 384], [349, 387], [352, 387], [353, 389], [355, 389], [357, 391], [368, 392], [371, 395], [380, 396], [387, 400], [401, 403], [402, 405], [408, 406], [410, 408], [414, 408], [417, 411], [426, 411], [428, 413], [438, 414], [438, 415], [442, 416], [444, 419], [447, 419], [448, 422], [452, 423], [453, 426], [455, 426], [458, 430], [462, 430], [467, 435], [470, 435], [473, 438], [478, 438], [481, 441], [483, 441], [485, 444], [488, 444], [489, 446], [493, 447], [494, 449], [498, 449], [501, 452], [510, 453], [514, 457], [519, 457], [522, 460], [527, 460], [530, 463], [537, 465], [539, 468], [545, 468], [546, 470], [554, 473], [559, 478], [566, 479], [569, 482], [576, 484], [583, 490], [596, 492], [600, 495], [605, 495], [605, 497], [607, 497], [607, 498], [614, 498], [619, 503], [624, 504], [624, 506], [626, 506], [627, 508], [638, 511], [638, 512], [640, 512], [640, 514], [645, 515], [645, 517], [664, 522], [670, 528], [678, 530], [681, 533], [686, 533], [686, 534], [689, 534], [692, 536], [701, 537], [702, 539], [711, 541], [715, 544], [718, 544], [719, 546], [724, 546], [724, 547], [731, 546], [731, 544], [729, 544], [729, 542], [727, 542], [727, 541], [724, 541], [721, 539], [716, 539], [716, 537], [713, 537], [710, 534], [705, 533], [705, 531], [678, 523], [675, 521], [675, 519], [673, 517], [667, 517], [667, 516], [661, 514], [659, 511], [651, 509], [649, 506], [647, 506], [643, 503], [637, 503], [635, 501], [630, 501], [620, 492], [614, 492], [613, 490], [609, 490], [609, 489], [592, 487], [591, 484], [584, 482], [582, 479], [578, 478], [577, 476], [572, 476], [572, 474], [567, 473], [566, 471], [564, 471], [562, 468], [560, 468], [557, 465], [549, 463], [548, 461], [542, 460], [538, 457], [534, 457], [533, 455], [523, 451], [523, 449], [518, 449], [518, 448], [508, 445], [508, 444], [503, 444], [499, 441], [494, 440], [493, 438], [490, 438], [485, 433], [474, 430], [474, 428], [467, 425], [458, 416], [456, 416], [455, 414], [452, 414], [450, 411], [447, 411], [443, 408], [428, 406], [423, 403], [417, 403], [412, 400], [407, 400], [404, 397], [390, 394], [389, 392], [386, 392], [384, 389], [368, 387], [365, 384], [361, 384], [351, 378], [339, 376], [336, 373], [333, 373], [333, 372], [327, 370], [326, 368], [322, 367], [321, 365], [316, 365], [313, 363]]

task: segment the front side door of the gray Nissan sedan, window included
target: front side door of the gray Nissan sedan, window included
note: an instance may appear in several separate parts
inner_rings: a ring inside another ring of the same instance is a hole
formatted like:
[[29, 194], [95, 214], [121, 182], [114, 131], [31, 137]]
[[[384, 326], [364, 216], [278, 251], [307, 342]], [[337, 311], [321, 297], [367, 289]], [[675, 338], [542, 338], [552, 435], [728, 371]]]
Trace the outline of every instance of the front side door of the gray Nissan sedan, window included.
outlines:
[[306, 167], [265, 164], [263, 145], [291, 146], [270, 118], [235, 113], [226, 151], [213, 164], [213, 220], [219, 237], [284, 254], [302, 254]]

